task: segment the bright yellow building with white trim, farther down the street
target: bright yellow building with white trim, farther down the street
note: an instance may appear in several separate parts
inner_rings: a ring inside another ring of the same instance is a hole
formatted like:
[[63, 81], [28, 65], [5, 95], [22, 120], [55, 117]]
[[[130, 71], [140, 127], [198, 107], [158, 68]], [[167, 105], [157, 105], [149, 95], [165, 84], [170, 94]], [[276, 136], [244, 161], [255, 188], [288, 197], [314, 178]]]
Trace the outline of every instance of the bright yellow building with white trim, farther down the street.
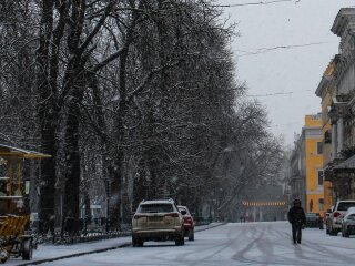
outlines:
[[305, 160], [305, 211], [324, 212], [322, 113], [305, 116], [302, 129]]

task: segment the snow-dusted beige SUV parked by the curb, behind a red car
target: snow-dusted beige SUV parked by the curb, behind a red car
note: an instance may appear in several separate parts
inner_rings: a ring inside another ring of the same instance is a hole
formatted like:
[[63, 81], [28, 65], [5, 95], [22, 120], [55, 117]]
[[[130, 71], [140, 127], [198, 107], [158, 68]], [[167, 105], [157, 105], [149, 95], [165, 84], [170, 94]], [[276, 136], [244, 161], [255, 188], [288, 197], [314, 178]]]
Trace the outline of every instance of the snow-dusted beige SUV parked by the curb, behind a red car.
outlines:
[[132, 244], [143, 246], [148, 241], [184, 242], [183, 216], [173, 200], [143, 201], [132, 218]]

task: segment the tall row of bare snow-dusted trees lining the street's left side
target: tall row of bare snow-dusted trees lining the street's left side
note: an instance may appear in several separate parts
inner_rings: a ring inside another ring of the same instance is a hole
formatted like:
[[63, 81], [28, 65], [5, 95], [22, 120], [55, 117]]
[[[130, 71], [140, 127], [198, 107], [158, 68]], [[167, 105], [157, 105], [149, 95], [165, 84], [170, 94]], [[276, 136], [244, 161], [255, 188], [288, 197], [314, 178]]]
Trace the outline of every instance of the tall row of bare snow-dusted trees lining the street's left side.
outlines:
[[[205, 0], [3, 0], [0, 141], [40, 165], [41, 231], [108, 200], [111, 228], [142, 200], [229, 218], [275, 182], [281, 143], [235, 78], [234, 25]], [[53, 221], [53, 223], [51, 223]]]

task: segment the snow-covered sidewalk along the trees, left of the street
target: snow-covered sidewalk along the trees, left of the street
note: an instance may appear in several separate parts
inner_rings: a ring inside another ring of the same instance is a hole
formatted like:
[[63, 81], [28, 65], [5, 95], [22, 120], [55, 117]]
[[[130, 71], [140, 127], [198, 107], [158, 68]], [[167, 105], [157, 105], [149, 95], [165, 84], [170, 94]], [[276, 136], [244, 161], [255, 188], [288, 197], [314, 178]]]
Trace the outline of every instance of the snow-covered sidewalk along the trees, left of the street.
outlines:
[[[222, 225], [222, 223], [211, 223], [209, 225], [196, 226], [195, 232], [213, 228], [219, 225]], [[43, 244], [39, 245], [37, 250], [33, 250], [33, 258], [31, 260], [22, 260], [22, 258], [10, 257], [6, 265], [38, 265], [41, 263], [53, 262], [61, 258], [75, 257], [92, 253], [101, 253], [110, 249], [130, 246], [131, 241], [132, 238], [130, 236], [125, 236], [73, 245]]]

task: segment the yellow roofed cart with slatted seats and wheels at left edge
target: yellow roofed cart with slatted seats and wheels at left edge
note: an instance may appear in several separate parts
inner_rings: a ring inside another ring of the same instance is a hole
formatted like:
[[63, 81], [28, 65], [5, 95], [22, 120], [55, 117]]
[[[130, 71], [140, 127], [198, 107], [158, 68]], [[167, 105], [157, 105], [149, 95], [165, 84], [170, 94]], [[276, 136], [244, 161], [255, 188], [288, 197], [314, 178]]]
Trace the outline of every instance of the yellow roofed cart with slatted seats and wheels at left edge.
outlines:
[[9, 256], [32, 258], [32, 236], [24, 232], [30, 214], [23, 212], [27, 184], [22, 166], [24, 160], [48, 157], [51, 156], [0, 143], [0, 263]]

